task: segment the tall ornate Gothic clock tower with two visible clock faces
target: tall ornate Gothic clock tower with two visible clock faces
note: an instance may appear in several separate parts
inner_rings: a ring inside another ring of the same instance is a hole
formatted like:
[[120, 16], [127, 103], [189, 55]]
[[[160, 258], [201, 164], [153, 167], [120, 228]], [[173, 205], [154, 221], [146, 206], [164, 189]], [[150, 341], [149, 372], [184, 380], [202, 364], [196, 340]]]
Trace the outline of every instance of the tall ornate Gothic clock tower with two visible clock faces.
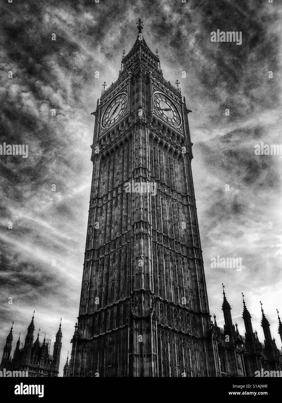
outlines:
[[[97, 102], [69, 376], [216, 376], [185, 98], [137, 23]], [[104, 83], [105, 85], [105, 83]]]

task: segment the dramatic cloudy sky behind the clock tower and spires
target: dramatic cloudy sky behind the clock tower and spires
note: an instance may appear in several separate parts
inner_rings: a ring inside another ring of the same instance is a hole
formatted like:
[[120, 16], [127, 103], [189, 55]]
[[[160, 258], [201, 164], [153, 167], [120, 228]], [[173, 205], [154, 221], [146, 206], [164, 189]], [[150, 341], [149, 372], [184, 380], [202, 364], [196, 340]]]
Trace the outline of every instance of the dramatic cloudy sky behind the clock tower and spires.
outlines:
[[[62, 317], [62, 376], [78, 315], [93, 168], [91, 112], [103, 81], [117, 79], [139, 17], [146, 42], [159, 50], [165, 78], [180, 81], [192, 110], [192, 169], [210, 312], [222, 326], [223, 282], [243, 333], [243, 291], [263, 341], [263, 301], [281, 348], [276, 307], [282, 315], [282, 158], [254, 152], [258, 143], [281, 143], [277, 4], [2, 2], [0, 144], [27, 144], [28, 158], [0, 156], [1, 351], [12, 320], [15, 345], [19, 332], [24, 342], [34, 309], [41, 341], [56, 333]], [[211, 42], [217, 29], [241, 31], [241, 46]], [[217, 255], [241, 258], [242, 270], [211, 268]]]

